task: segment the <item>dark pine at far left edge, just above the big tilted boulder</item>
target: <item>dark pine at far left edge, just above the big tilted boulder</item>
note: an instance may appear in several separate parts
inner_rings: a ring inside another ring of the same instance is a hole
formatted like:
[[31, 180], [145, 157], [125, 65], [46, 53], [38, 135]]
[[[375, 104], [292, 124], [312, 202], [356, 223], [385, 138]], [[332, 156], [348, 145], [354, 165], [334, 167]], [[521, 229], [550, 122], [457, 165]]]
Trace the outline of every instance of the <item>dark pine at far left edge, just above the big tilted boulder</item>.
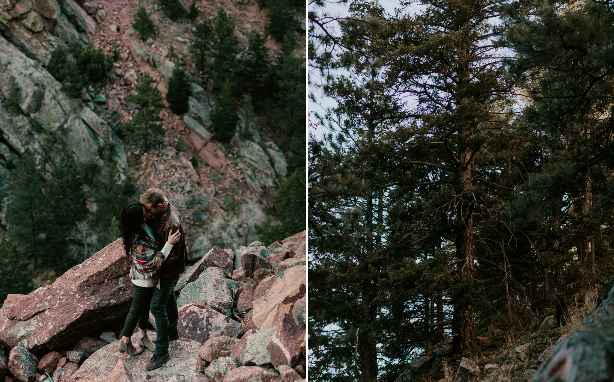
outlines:
[[15, 243], [0, 239], [0, 307], [8, 294], [28, 294], [34, 290], [29, 265]]

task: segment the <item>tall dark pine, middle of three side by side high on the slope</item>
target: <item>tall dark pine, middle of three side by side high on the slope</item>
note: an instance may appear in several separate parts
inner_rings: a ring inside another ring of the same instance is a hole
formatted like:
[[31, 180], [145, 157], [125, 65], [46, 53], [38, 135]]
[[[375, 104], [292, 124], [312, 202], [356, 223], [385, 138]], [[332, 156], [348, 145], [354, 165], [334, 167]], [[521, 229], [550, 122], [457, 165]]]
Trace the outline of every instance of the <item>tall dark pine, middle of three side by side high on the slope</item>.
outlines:
[[216, 40], [212, 53], [215, 59], [216, 82], [235, 86], [234, 72], [238, 69], [236, 55], [239, 53], [239, 40], [235, 37], [235, 23], [228, 17], [222, 7], [217, 10]]

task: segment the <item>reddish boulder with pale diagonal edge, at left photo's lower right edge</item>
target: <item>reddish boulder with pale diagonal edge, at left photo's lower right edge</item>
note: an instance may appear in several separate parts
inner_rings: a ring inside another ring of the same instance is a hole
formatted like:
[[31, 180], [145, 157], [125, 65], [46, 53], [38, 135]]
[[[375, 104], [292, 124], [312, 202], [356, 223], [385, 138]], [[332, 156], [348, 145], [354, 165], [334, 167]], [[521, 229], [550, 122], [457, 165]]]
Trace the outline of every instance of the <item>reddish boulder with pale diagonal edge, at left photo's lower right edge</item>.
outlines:
[[301, 343], [305, 342], [305, 325], [297, 325], [289, 314], [279, 317], [277, 329], [266, 348], [271, 352], [271, 364], [295, 367], [305, 362]]

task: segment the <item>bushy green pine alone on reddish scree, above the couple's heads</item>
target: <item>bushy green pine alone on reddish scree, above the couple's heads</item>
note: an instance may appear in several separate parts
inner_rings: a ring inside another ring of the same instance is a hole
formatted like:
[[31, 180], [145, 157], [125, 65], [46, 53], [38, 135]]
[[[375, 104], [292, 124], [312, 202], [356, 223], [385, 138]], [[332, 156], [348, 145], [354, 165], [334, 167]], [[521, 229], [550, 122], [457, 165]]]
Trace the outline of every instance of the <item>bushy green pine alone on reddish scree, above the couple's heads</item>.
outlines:
[[130, 132], [128, 140], [133, 145], [141, 145], [147, 150], [149, 143], [164, 134], [164, 129], [159, 122], [160, 110], [165, 105], [161, 102], [163, 97], [160, 90], [155, 86], [154, 80], [149, 73], [144, 72], [139, 76], [138, 84], [135, 86], [137, 94], [130, 94], [126, 101], [137, 105], [139, 112], [133, 116], [130, 122]]

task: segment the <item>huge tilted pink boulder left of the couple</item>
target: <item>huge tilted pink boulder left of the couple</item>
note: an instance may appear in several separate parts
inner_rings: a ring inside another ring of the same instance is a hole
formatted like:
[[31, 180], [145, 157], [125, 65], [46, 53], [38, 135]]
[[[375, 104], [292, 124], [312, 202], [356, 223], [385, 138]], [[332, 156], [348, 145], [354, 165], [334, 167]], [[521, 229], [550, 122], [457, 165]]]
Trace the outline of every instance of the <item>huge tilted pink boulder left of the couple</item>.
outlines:
[[28, 350], [68, 348], [100, 327], [123, 321], [134, 288], [122, 239], [20, 299], [0, 316], [0, 343]]

